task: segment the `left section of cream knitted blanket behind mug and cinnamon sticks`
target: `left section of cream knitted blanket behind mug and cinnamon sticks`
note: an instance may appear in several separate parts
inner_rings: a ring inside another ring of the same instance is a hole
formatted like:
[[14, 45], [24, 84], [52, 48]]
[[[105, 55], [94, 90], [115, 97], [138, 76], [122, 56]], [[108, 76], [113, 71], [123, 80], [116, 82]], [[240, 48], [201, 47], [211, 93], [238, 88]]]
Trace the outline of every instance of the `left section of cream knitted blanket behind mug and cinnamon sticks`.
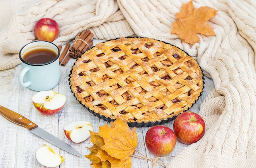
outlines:
[[115, 0], [2, 0], [0, 7], [0, 70], [20, 63], [18, 53], [36, 40], [34, 25], [40, 18], [58, 22], [56, 45], [64, 45], [89, 28], [94, 38], [105, 40], [134, 34]]

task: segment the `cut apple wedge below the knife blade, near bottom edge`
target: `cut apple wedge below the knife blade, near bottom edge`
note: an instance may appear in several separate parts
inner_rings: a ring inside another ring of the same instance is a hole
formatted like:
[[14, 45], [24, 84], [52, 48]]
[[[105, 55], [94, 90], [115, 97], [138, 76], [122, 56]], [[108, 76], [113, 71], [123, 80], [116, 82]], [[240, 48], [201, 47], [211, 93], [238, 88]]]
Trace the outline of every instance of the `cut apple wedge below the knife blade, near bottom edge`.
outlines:
[[36, 150], [37, 161], [46, 167], [59, 166], [65, 159], [56, 153], [51, 147], [44, 144]]

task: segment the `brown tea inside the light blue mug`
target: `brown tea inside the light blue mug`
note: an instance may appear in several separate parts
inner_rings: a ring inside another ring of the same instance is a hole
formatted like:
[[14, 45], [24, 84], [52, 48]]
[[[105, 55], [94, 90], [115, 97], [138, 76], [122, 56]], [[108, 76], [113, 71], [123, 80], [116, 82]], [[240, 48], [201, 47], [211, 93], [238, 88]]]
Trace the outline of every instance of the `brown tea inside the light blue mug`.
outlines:
[[39, 49], [33, 49], [29, 52], [26, 52], [22, 56], [22, 59], [32, 64], [43, 64], [43, 63], [48, 63], [51, 60], [54, 60], [56, 56], [57, 56], [57, 53], [51, 49], [39, 48]]

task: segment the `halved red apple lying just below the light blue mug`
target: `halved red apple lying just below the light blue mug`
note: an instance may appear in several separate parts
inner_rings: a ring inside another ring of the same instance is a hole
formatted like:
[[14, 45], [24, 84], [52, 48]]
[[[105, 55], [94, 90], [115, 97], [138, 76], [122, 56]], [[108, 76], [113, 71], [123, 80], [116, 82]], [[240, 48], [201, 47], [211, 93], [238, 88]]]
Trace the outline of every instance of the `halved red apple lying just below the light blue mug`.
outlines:
[[53, 115], [63, 108], [66, 96], [53, 90], [46, 90], [36, 93], [32, 97], [32, 102], [35, 108], [42, 114]]

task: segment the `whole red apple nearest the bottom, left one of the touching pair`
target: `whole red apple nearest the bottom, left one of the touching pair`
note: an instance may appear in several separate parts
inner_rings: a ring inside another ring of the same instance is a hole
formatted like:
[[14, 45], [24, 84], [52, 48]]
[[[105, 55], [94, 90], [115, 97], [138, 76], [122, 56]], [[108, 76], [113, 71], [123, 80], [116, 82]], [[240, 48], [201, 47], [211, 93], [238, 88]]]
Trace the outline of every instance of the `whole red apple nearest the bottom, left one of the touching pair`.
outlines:
[[164, 156], [171, 153], [176, 145], [176, 136], [163, 125], [155, 125], [149, 128], [145, 136], [146, 147], [153, 155]]

